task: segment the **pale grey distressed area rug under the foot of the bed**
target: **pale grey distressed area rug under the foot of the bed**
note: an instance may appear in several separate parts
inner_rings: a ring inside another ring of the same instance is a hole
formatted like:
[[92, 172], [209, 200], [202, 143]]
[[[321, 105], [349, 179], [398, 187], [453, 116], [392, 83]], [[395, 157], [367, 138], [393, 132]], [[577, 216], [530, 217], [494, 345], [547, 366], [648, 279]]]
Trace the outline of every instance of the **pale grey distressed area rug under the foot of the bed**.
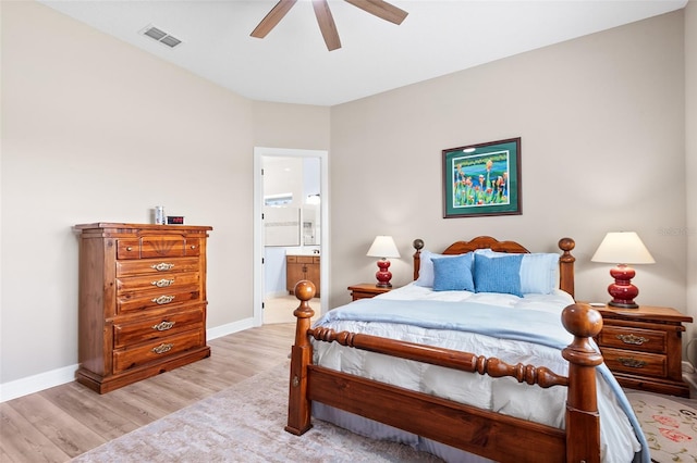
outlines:
[[283, 430], [288, 362], [174, 412], [73, 462], [440, 462], [318, 420], [298, 437]]

